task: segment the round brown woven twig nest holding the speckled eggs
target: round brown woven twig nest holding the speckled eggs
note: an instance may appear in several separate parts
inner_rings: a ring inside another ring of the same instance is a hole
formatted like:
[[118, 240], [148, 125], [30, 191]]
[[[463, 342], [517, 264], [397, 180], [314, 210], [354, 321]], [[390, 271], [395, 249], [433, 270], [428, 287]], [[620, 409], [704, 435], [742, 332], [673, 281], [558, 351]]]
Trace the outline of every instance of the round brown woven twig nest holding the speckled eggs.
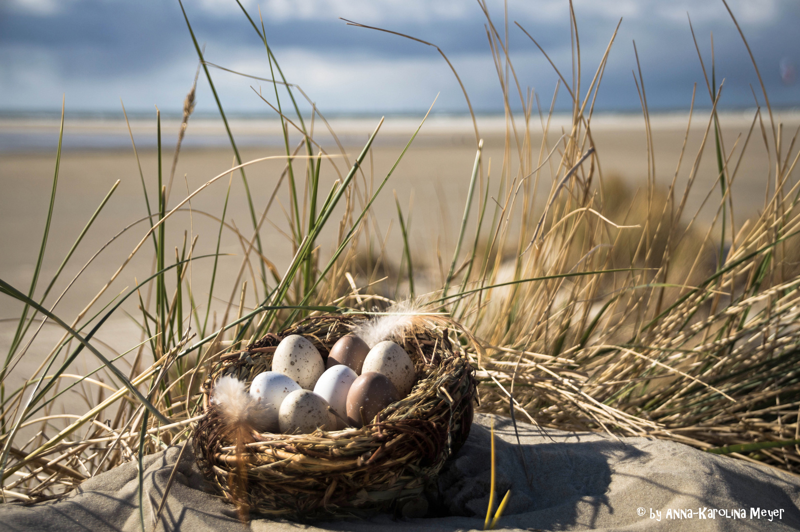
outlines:
[[[274, 347], [289, 334], [308, 338], [326, 357], [339, 338], [364, 320], [354, 314], [306, 318], [245, 351], [223, 355], [210, 372], [203, 385], [207, 415], [199, 422], [194, 446], [206, 477], [230, 502], [299, 521], [391, 511], [418, 498], [462, 446], [473, 417], [474, 370], [446, 330], [416, 328], [405, 338], [393, 338], [414, 361], [414, 389], [369, 425], [313, 434], [253, 433], [237, 456], [235, 442], [222, 430], [222, 414], [210, 402], [216, 379], [233, 375], [249, 383], [271, 369]], [[242, 472], [246, 479], [237, 478]]]

